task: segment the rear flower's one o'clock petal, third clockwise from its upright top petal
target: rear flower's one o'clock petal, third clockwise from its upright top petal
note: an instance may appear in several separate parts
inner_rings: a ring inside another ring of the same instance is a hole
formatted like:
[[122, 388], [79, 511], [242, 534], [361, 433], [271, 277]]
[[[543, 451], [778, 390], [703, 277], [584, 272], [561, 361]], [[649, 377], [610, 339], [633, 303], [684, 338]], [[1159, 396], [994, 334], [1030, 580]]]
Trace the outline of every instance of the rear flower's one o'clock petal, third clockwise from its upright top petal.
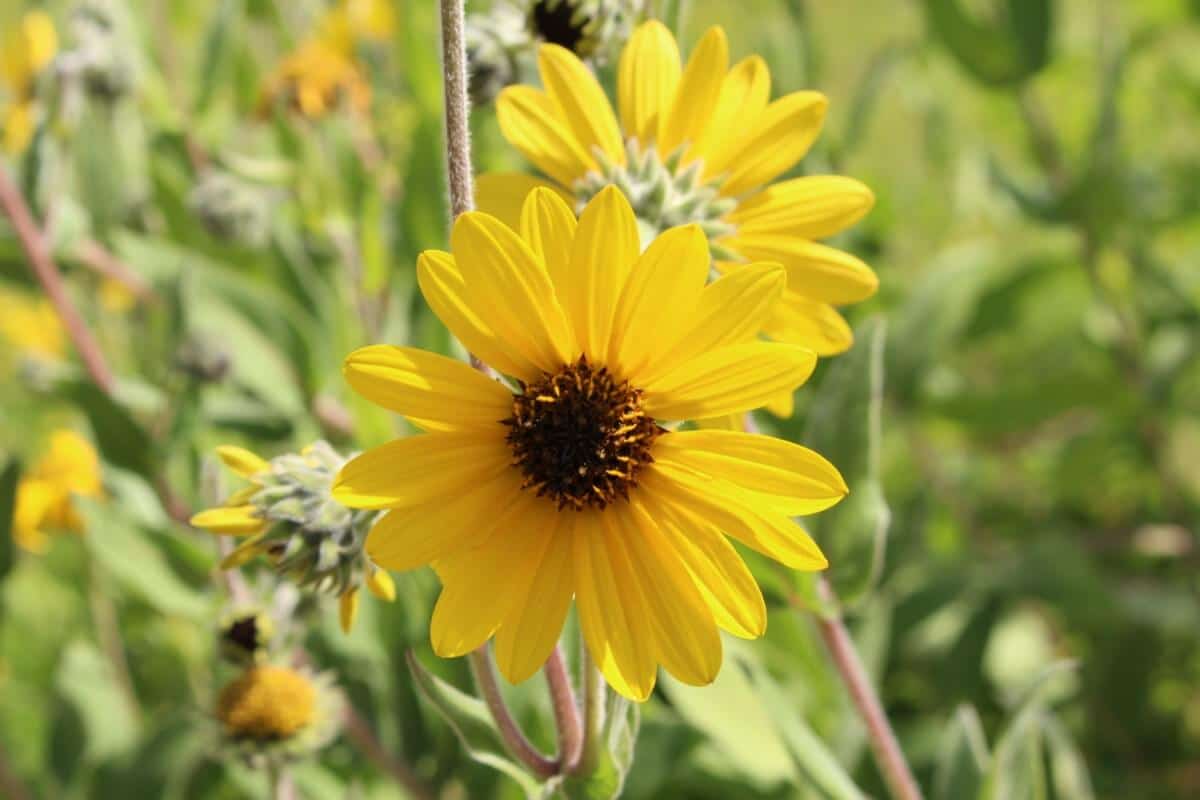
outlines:
[[704, 160], [706, 182], [726, 170], [752, 134], [769, 98], [770, 70], [761, 56], [743, 59], [725, 76], [708, 126], [688, 152], [689, 158]]

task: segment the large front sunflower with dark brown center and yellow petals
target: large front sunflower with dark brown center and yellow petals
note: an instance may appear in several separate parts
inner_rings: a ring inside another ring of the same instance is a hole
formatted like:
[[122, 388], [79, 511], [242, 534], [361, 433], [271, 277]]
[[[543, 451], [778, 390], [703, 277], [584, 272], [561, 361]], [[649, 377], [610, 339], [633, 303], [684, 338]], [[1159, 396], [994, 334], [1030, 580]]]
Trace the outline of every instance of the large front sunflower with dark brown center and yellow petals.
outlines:
[[376, 563], [434, 566], [440, 656], [494, 634], [502, 672], [520, 682], [546, 661], [574, 600], [592, 657], [622, 694], [644, 699], [659, 664], [712, 681], [718, 628], [752, 638], [767, 625], [726, 536], [821, 570], [792, 517], [847, 492], [799, 445], [674, 425], [760, 407], [811, 374], [811, 350], [756, 336], [784, 269], [751, 264], [706, 285], [700, 227], [641, 252], [634, 211], [612, 187], [578, 221], [545, 188], [524, 200], [516, 231], [464, 213], [451, 246], [421, 254], [421, 291], [508, 378], [413, 348], [350, 354], [350, 385], [425, 433], [350, 461], [334, 497], [388, 510], [367, 536]]

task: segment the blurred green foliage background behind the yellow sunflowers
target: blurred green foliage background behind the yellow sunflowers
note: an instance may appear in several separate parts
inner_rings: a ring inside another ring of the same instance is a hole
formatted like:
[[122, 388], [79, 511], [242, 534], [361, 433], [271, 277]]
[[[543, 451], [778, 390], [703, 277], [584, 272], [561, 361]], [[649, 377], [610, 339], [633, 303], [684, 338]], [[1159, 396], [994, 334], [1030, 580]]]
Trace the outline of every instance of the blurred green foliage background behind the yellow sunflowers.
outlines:
[[[164, 498], [222, 497], [218, 444], [392, 435], [341, 380], [356, 345], [461, 353], [413, 272], [446, 231], [434, 4], [400, 4], [355, 43], [362, 110], [311, 116], [264, 86], [316, 0], [5, 0], [0, 30], [35, 7], [60, 58], [108, 60], [37, 89], [53, 124], [5, 164], [118, 386], [106, 397], [61, 336], [47, 343], [0, 222], [0, 453], [28, 465], [53, 429], [79, 429], [107, 493], [44, 554], [4, 537], [0, 750], [35, 796], [259, 796], [211, 718], [228, 678], [216, 546]], [[80, 30], [88, 14], [107, 38]], [[767, 58], [773, 96], [824, 91], [798, 172], [878, 198], [841, 242], [882, 283], [847, 311], [854, 349], [792, 420], [762, 422], [865, 498], [814, 531], [926, 794], [1200, 796], [1196, 4], [708, 0], [679, 19], [685, 52], [721, 24], [734, 58]], [[521, 167], [490, 108], [473, 122], [480, 169]], [[886, 794], [811, 584], [755, 569], [767, 637], [731, 643], [713, 687], [664, 681], [625, 796]], [[428, 649], [432, 573], [397, 584], [350, 636], [328, 606], [305, 610], [312, 661], [444, 796], [522, 796], [414, 694], [409, 648], [463, 687], [467, 670]], [[540, 681], [512, 698], [548, 747]], [[295, 775], [305, 796], [403, 796], [346, 738]]]

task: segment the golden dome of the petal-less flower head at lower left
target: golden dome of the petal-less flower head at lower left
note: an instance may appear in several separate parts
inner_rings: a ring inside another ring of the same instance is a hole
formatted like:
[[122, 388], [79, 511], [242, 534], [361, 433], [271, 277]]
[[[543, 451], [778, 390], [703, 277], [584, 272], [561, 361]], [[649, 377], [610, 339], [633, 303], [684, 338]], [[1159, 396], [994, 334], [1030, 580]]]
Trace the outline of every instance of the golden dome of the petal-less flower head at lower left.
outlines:
[[317, 690], [286, 667], [253, 667], [223, 690], [217, 717], [238, 738], [286, 739], [312, 722]]

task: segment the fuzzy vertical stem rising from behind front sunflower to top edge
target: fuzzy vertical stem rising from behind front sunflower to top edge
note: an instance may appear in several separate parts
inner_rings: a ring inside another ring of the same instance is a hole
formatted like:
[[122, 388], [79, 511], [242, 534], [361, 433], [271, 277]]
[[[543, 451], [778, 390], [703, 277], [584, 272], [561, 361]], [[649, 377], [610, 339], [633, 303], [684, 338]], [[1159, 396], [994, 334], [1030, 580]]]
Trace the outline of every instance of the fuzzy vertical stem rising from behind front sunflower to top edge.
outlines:
[[450, 217], [474, 207], [470, 170], [470, 98], [467, 95], [467, 47], [463, 0], [442, 4], [442, 73], [446, 115], [446, 181]]

